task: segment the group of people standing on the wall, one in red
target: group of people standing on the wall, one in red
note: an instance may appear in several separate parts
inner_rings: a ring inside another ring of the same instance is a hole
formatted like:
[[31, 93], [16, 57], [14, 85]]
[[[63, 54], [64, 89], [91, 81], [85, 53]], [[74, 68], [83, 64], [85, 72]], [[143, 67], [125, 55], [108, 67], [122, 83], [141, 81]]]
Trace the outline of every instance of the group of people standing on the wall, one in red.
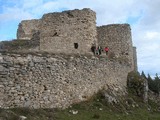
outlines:
[[109, 48], [108, 47], [102, 48], [101, 46], [98, 47], [92, 46], [91, 50], [94, 55], [101, 55], [103, 51], [106, 53], [106, 55], [108, 55]]

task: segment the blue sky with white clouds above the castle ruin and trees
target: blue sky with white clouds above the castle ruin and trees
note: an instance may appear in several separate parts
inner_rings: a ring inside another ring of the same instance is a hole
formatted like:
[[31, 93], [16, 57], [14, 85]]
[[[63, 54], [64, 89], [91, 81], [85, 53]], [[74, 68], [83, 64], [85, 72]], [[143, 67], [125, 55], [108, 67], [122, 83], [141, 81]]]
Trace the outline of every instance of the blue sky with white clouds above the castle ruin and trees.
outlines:
[[160, 75], [160, 0], [0, 0], [0, 41], [16, 38], [18, 23], [44, 13], [91, 8], [97, 25], [129, 23], [138, 69]]

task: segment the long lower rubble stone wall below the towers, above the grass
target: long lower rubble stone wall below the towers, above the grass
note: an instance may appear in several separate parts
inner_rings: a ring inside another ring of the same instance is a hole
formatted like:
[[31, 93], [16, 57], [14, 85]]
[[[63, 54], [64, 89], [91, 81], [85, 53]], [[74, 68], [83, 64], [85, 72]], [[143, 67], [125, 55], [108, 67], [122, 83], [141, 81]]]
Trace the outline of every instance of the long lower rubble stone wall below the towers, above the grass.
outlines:
[[0, 55], [0, 106], [65, 108], [104, 85], [126, 86], [132, 68], [94, 56]]

